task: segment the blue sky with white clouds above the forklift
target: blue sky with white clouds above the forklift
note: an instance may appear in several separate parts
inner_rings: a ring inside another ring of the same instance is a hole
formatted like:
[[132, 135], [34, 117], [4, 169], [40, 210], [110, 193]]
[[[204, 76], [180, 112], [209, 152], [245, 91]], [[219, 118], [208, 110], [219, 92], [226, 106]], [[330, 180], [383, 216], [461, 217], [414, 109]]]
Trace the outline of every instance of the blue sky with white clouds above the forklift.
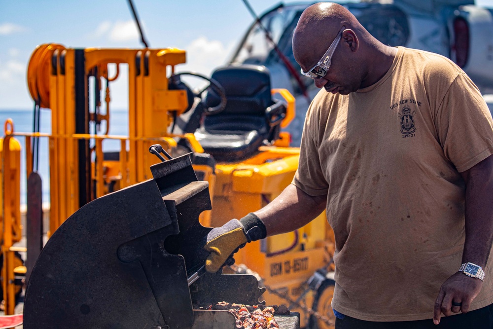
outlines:
[[[261, 13], [280, 1], [249, 2]], [[493, 7], [493, 0], [476, 2]], [[187, 64], [178, 71], [210, 74], [224, 63], [252, 22], [242, 0], [134, 0], [134, 4], [152, 48], [187, 50]], [[32, 108], [26, 68], [35, 46], [47, 42], [66, 47], [141, 47], [126, 0], [0, 0], [0, 109]]]

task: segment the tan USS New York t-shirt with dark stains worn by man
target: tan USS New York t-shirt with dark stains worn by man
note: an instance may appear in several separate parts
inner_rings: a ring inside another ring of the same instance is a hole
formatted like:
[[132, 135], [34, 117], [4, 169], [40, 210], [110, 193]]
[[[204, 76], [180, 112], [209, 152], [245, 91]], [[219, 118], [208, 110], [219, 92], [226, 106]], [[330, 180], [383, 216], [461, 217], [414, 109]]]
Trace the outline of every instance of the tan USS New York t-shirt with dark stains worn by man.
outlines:
[[[465, 171], [493, 153], [492, 117], [450, 60], [399, 47], [387, 74], [307, 112], [293, 183], [327, 194], [336, 238], [332, 307], [367, 321], [431, 319], [458, 271]], [[493, 303], [490, 259], [471, 310]]]

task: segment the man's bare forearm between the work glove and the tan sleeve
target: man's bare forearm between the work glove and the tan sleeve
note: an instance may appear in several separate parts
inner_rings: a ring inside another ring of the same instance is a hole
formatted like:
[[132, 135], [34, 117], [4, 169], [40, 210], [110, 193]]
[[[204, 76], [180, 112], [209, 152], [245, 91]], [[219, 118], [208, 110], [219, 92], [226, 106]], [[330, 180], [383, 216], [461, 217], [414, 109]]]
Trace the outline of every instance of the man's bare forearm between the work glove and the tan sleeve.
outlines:
[[294, 231], [315, 219], [325, 209], [327, 195], [311, 196], [294, 184], [259, 211], [267, 236]]

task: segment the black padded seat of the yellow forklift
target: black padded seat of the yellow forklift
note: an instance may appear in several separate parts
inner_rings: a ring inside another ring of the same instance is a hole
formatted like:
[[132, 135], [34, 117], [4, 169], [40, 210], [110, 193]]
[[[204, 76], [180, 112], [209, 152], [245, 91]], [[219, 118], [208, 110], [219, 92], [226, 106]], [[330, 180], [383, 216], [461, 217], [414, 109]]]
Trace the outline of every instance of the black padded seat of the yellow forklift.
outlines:
[[[219, 68], [211, 76], [226, 94], [226, 107], [207, 115], [195, 132], [197, 141], [215, 160], [241, 161], [264, 143], [279, 138], [280, 124], [286, 115], [286, 104], [274, 100], [267, 68], [241, 65]], [[219, 96], [210, 89], [206, 106], [216, 106]]]

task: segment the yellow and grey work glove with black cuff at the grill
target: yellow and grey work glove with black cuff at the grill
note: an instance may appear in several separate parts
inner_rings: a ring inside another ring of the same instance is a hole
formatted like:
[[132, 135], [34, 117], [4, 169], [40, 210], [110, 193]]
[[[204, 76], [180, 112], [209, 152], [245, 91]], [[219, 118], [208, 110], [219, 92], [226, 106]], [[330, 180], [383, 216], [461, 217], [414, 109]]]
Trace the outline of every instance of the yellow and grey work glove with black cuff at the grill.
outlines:
[[245, 247], [247, 242], [266, 236], [264, 223], [253, 213], [244, 218], [231, 219], [221, 227], [213, 228], [207, 235], [204, 248], [211, 254], [206, 260], [206, 270], [217, 272], [224, 264], [233, 265], [233, 254]]

